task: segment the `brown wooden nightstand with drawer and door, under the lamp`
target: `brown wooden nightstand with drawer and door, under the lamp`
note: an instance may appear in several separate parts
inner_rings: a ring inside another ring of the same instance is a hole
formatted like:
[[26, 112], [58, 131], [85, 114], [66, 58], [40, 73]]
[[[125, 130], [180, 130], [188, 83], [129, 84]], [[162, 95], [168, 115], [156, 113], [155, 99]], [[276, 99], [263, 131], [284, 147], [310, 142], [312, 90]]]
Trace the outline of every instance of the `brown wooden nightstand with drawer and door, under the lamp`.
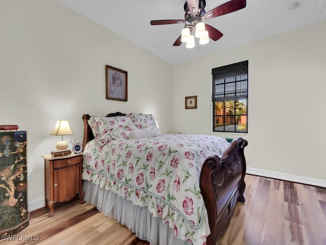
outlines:
[[45, 176], [45, 208], [53, 216], [53, 202], [70, 201], [79, 194], [79, 202], [84, 203], [82, 189], [83, 153], [53, 157], [43, 155]]

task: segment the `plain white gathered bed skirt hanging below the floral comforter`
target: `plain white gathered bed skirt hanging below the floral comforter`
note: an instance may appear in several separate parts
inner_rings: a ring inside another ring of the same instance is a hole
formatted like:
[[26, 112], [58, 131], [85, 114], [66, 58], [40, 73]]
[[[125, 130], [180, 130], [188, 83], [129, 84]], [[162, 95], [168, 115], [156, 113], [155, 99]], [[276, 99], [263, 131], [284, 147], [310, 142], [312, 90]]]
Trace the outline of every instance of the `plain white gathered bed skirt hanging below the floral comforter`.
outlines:
[[174, 230], [162, 223], [162, 218], [153, 217], [147, 207], [134, 206], [131, 201], [106, 191], [93, 182], [84, 180], [84, 200], [97, 207], [105, 216], [116, 218], [137, 237], [151, 245], [192, 245], [174, 236]]

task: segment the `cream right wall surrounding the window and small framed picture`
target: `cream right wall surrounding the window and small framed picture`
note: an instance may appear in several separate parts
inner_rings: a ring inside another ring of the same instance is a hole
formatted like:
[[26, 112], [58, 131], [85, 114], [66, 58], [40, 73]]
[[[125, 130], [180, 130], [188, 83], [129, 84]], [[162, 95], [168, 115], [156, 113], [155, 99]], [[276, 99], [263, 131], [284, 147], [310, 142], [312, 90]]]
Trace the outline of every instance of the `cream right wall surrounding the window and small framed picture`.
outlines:
[[[326, 186], [325, 30], [323, 21], [174, 65], [174, 131], [241, 136], [252, 171]], [[248, 134], [212, 133], [211, 69], [243, 60], [249, 60]], [[184, 109], [191, 95], [198, 96], [197, 110]]]

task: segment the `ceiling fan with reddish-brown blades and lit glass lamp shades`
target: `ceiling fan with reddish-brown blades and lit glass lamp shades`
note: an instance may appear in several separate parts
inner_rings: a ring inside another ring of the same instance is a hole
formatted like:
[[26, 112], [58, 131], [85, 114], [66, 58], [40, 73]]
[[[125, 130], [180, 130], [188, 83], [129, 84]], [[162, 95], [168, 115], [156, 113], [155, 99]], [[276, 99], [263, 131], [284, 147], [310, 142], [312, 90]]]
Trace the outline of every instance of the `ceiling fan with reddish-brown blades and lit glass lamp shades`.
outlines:
[[[216, 30], [212, 26], [209, 26], [209, 24], [204, 24], [204, 22], [202, 22], [202, 19], [210, 19], [224, 14], [232, 13], [234, 11], [245, 8], [246, 4], [246, 0], [231, 0], [216, 8], [213, 8], [212, 10], [206, 13], [204, 9], [206, 6], [205, 0], [186, 0], [183, 6], [183, 9], [185, 11], [184, 19], [151, 20], [150, 23], [152, 26], [158, 24], [185, 23], [184, 29], [182, 30], [182, 34], [173, 43], [173, 46], [180, 46], [182, 42], [187, 42], [188, 45], [188, 41], [190, 40], [189, 38], [192, 37], [192, 39], [194, 39], [194, 37], [190, 35], [190, 33], [192, 33], [193, 31], [196, 31], [196, 37], [204, 37], [204, 35], [206, 35], [206, 39], [203, 39], [203, 42], [201, 42], [200, 40], [200, 43], [204, 44], [208, 42], [209, 38], [214, 41], [219, 40], [223, 36], [223, 34], [219, 30]], [[183, 32], [187, 34], [184, 34]], [[195, 46], [195, 42], [193, 43], [193, 46]]]

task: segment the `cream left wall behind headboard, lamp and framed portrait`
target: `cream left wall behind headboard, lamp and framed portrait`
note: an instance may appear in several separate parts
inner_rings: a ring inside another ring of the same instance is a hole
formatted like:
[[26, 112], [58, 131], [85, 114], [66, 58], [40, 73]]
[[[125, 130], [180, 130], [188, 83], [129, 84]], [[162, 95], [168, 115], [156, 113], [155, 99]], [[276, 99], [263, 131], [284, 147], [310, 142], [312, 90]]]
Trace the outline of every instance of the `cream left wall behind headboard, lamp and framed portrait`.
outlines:
[[[105, 99], [105, 65], [128, 71], [128, 102]], [[28, 131], [34, 208], [44, 206], [41, 155], [61, 140], [50, 135], [58, 119], [69, 120], [68, 142], [82, 142], [84, 113], [152, 113], [172, 130], [172, 65], [55, 1], [0, 1], [0, 75], [0, 125]]]

